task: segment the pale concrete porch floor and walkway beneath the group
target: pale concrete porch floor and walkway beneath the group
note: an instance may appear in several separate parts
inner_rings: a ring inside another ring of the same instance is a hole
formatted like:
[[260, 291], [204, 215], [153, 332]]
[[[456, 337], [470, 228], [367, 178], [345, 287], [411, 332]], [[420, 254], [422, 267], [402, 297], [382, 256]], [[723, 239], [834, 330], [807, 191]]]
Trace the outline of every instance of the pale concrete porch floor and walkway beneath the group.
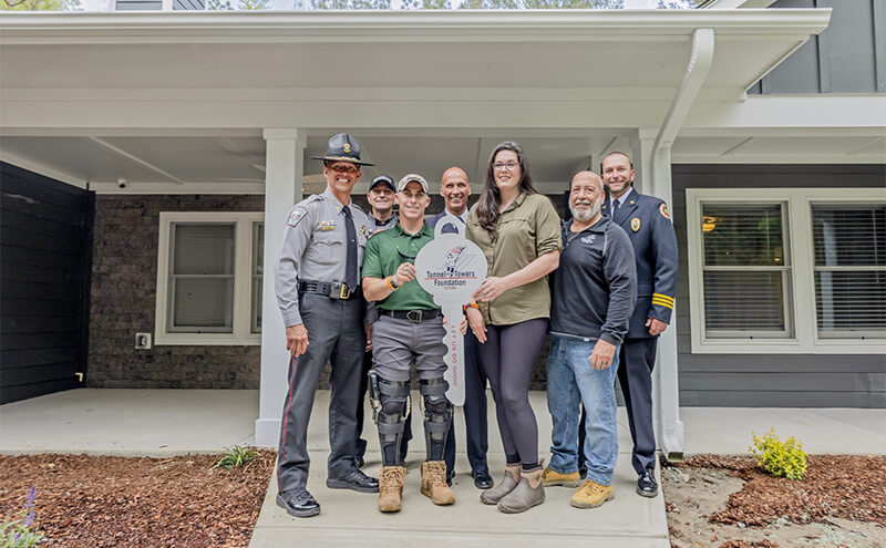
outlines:
[[[320, 500], [322, 513], [309, 519], [289, 517], [274, 502], [276, 485], [271, 480], [250, 546], [669, 546], [662, 498], [645, 499], [633, 493], [636, 478], [624, 409], [618, 414], [616, 498], [601, 508], [571, 508], [568, 500], [573, 489], [565, 487], [548, 488], [544, 505], [518, 516], [482, 505], [467, 475], [464, 421], [457, 415], [456, 504], [435, 507], [419, 493], [424, 443], [415, 440], [406, 463], [403, 510], [380, 515], [375, 495], [326, 488], [328, 397], [328, 392], [318, 393], [308, 435], [315, 463], [308, 487]], [[544, 393], [532, 393], [530, 401], [539, 423], [539, 451], [547, 456], [550, 417]], [[0, 452], [151, 456], [218, 452], [225, 446], [253, 443], [257, 411], [257, 391], [81, 389], [0, 406]], [[886, 454], [886, 410], [684, 407], [680, 412], [688, 455], [748, 453], [751, 431], [761, 434], [770, 427], [783, 438], [797, 437], [808, 453]], [[413, 417], [413, 431], [421, 432], [419, 417]], [[488, 459], [497, 482], [504, 454], [492, 401], [490, 417]], [[379, 446], [371, 424], [365, 434], [370, 442], [365, 469], [377, 474]]]

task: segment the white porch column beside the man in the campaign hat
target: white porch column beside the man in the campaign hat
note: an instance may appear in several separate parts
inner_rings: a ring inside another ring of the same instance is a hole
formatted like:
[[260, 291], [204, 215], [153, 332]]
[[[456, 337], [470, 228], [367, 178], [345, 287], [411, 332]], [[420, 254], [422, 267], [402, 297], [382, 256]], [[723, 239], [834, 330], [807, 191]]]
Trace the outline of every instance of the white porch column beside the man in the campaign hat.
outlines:
[[261, 318], [261, 380], [256, 445], [276, 447], [286, 395], [289, 353], [274, 290], [274, 268], [282, 248], [289, 209], [301, 200], [306, 136], [298, 130], [265, 130], [265, 262]]

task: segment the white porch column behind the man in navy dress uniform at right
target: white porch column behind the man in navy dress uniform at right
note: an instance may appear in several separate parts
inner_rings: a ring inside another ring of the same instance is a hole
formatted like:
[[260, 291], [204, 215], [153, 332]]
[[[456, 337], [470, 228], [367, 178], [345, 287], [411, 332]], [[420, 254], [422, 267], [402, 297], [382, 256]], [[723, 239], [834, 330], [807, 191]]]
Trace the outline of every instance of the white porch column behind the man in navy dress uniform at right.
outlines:
[[[653, 157], [657, 134], [657, 130], [640, 128], [630, 138], [633, 167], [639, 182], [638, 190], [658, 196], [673, 210], [670, 147], [660, 149], [659, 157]], [[677, 307], [680, 296], [674, 301], [671, 323], [658, 338], [656, 368], [652, 371], [652, 422], [658, 448], [666, 456], [680, 458], [683, 453], [683, 423], [680, 421], [677, 374]]]

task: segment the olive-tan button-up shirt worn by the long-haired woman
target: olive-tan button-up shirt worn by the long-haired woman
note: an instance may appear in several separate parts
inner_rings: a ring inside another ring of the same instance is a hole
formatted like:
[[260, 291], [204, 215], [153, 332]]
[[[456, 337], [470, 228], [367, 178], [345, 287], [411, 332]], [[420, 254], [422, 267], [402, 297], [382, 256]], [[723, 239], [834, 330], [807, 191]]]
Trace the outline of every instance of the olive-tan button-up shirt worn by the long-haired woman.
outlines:
[[[480, 246], [488, 263], [488, 276], [516, 272], [538, 257], [563, 249], [560, 218], [550, 200], [540, 194], [521, 194], [498, 216], [498, 238], [480, 226], [477, 208], [467, 217], [467, 239]], [[547, 276], [505, 291], [491, 303], [480, 303], [486, 323], [509, 325], [550, 317]]]

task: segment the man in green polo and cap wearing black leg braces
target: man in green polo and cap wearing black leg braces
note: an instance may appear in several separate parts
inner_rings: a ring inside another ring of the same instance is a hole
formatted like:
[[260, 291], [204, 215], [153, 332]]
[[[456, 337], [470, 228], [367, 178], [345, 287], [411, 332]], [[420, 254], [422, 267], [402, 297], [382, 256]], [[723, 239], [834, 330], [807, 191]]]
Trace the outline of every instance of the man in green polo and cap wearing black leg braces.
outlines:
[[379, 510], [398, 511], [406, 469], [400, 455], [403, 425], [410, 413], [410, 369], [415, 364], [419, 391], [424, 400], [426, 459], [422, 463], [423, 495], [436, 505], [450, 505], [455, 495], [446, 485], [443, 448], [452, 423], [446, 400], [443, 356], [445, 328], [434, 298], [415, 280], [415, 257], [434, 239], [424, 221], [431, 203], [427, 182], [410, 174], [396, 185], [400, 220], [370, 238], [363, 256], [363, 294], [375, 301], [379, 320], [372, 328], [370, 395], [377, 410], [382, 469], [379, 475]]

